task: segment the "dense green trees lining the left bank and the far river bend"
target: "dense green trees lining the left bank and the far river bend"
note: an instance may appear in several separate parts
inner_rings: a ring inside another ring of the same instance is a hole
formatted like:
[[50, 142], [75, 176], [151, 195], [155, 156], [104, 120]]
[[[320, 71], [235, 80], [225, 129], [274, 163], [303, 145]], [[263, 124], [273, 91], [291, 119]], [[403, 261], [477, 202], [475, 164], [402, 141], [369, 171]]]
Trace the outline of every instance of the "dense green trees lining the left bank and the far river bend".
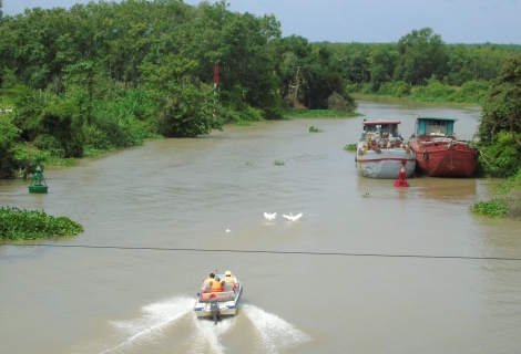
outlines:
[[480, 102], [503, 59], [520, 52], [448, 45], [428, 28], [397, 43], [309, 43], [282, 38], [275, 17], [232, 12], [225, 0], [35, 8], [4, 17], [0, 38], [0, 108], [14, 108], [0, 112], [3, 177], [38, 158], [208, 134], [279, 118], [290, 106], [354, 110], [351, 90]]

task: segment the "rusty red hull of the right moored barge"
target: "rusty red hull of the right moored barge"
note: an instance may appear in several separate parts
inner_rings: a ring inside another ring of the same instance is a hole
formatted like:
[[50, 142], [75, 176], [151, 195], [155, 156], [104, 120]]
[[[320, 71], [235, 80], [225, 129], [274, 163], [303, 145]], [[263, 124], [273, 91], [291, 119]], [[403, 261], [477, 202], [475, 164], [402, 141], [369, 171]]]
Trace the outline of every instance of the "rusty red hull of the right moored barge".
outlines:
[[425, 144], [411, 140], [417, 167], [429, 177], [471, 177], [478, 165], [478, 150], [463, 142]]

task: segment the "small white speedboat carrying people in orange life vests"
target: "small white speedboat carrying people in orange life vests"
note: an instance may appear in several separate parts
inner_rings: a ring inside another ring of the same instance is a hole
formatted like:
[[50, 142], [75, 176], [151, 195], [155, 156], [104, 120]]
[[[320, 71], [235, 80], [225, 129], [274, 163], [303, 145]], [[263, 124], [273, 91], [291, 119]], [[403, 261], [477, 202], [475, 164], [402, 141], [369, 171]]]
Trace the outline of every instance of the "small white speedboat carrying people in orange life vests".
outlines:
[[[224, 279], [224, 274], [217, 274], [215, 278]], [[213, 317], [217, 322], [219, 316], [233, 316], [237, 311], [238, 301], [243, 294], [243, 284], [235, 277], [236, 289], [229, 282], [225, 282], [222, 292], [212, 292], [210, 284], [203, 282], [197, 300], [195, 301], [194, 311], [197, 317]]]

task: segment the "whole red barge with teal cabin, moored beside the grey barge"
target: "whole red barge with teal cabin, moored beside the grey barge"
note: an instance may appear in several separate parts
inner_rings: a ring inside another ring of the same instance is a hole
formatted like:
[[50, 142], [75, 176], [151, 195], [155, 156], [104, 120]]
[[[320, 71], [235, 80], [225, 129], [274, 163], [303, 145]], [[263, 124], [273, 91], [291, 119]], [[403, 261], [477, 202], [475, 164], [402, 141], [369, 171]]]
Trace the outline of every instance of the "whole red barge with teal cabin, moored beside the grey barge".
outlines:
[[471, 177], [479, 150], [454, 137], [454, 118], [418, 117], [409, 140], [418, 169], [429, 177]]

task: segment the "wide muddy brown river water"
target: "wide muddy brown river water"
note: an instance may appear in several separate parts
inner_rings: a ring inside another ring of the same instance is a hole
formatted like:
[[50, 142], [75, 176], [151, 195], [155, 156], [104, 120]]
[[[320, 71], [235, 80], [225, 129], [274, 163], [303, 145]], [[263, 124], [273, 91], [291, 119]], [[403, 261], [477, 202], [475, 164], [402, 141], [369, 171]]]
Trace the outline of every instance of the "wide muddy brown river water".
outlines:
[[[358, 97], [367, 119], [458, 118], [477, 106]], [[0, 181], [0, 205], [85, 231], [37, 243], [354, 254], [521, 257], [519, 221], [474, 216], [496, 181], [358, 176], [362, 117], [226, 126], [49, 168], [48, 195]], [[324, 133], [311, 134], [310, 126]], [[284, 162], [275, 166], [274, 162]], [[364, 197], [369, 194], [369, 197]], [[277, 212], [266, 221], [264, 212]], [[297, 222], [283, 214], [303, 212]], [[231, 232], [225, 232], [229, 229]], [[2, 353], [519, 353], [521, 262], [0, 246]], [[210, 272], [244, 284], [237, 315], [197, 321]]]

